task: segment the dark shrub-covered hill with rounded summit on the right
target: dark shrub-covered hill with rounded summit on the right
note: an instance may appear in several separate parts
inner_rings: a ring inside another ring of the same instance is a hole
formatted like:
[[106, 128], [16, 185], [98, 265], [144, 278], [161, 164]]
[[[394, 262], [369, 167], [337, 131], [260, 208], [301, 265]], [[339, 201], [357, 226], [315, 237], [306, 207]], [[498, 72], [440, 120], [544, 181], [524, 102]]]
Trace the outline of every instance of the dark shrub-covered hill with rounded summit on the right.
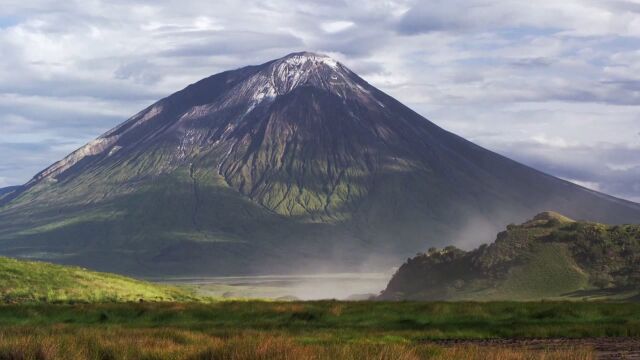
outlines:
[[414, 300], [635, 299], [640, 225], [573, 221], [545, 212], [472, 251], [429, 249], [380, 296]]

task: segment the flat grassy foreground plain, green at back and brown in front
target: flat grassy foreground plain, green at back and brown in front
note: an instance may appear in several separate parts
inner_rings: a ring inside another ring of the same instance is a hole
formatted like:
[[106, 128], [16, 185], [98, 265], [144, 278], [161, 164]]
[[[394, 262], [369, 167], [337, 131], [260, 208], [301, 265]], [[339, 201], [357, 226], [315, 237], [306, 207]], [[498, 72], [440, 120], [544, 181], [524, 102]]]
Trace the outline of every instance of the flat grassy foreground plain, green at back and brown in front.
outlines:
[[0, 306], [0, 359], [592, 359], [638, 337], [634, 303]]

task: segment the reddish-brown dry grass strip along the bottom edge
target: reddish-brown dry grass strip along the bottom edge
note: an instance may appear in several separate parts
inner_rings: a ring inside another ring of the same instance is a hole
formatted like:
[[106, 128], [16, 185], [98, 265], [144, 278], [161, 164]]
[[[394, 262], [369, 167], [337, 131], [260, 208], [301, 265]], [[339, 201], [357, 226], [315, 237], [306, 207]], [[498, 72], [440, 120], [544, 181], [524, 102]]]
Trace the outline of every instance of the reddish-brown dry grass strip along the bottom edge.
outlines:
[[86, 328], [61, 325], [48, 329], [10, 327], [0, 330], [0, 359], [591, 359], [588, 349], [516, 350], [426, 344], [305, 344], [288, 336], [244, 333], [213, 336], [172, 328]]

